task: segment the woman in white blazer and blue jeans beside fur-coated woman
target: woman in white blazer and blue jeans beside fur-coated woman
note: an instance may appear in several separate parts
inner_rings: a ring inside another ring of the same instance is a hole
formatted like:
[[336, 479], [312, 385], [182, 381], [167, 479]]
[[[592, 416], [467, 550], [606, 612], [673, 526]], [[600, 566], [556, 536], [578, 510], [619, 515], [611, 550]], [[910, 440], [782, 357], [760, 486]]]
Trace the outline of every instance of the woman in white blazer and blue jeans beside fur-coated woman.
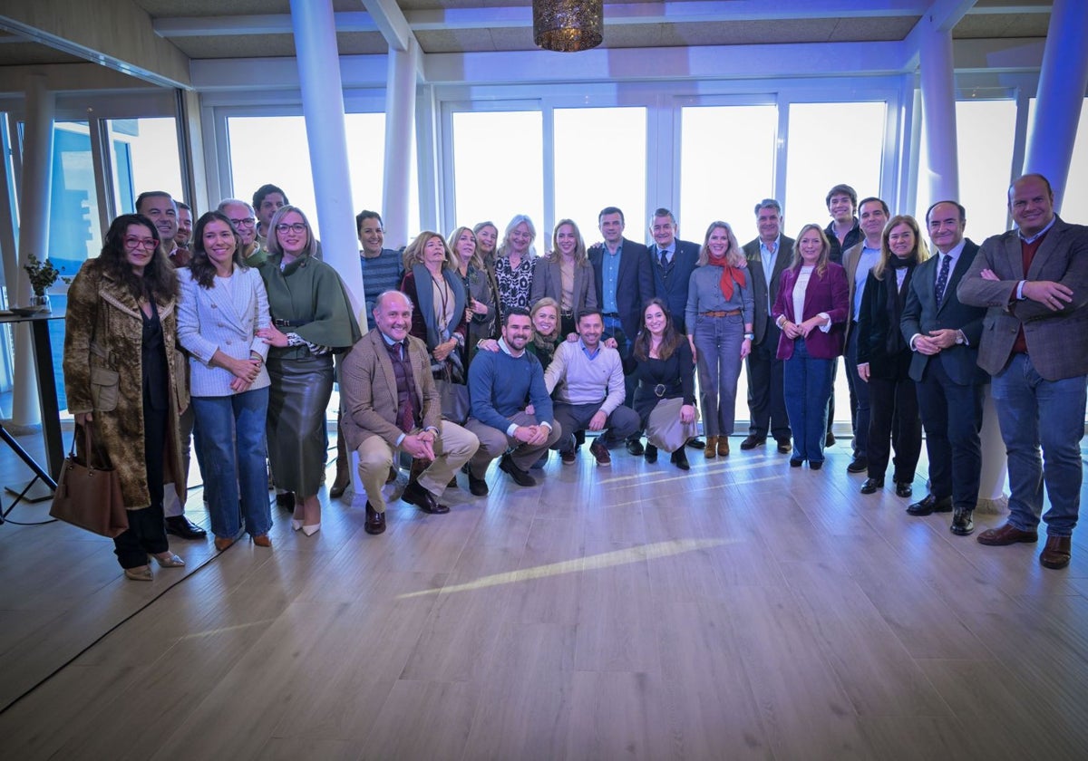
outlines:
[[258, 547], [271, 547], [264, 465], [269, 347], [257, 337], [259, 328], [272, 324], [264, 283], [256, 269], [243, 265], [242, 239], [225, 215], [208, 212], [193, 237], [193, 259], [177, 272], [177, 337], [190, 354], [196, 442], [207, 467], [202, 475], [215, 549], [234, 544], [243, 528]]

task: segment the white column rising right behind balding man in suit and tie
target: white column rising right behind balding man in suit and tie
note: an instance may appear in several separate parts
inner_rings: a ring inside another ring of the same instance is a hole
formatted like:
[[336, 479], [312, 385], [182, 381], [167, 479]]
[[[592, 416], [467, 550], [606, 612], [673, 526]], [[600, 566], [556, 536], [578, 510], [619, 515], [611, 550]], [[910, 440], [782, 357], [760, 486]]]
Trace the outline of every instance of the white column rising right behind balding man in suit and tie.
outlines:
[[[960, 165], [955, 134], [955, 78], [952, 71], [952, 34], [928, 29], [922, 35], [922, 114], [929, 152], [929, 197], [936, 201], [960, 198]], [[919, 210], [920, 212], [922, 210]]]

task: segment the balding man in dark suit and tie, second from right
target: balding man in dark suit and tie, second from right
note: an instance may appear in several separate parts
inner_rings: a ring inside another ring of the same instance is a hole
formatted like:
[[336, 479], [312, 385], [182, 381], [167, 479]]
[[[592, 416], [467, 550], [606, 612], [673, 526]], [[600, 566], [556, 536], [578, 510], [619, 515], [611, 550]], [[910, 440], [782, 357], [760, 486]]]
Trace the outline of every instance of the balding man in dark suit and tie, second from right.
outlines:
[[929, 453], [929, 494], [906, 512], [953, 511], [951, 531], [960, 536], [975, 531], [982, 387], [989, 382], [978, 366], [986, 310], [968, 307], [955, 292], [978, 253], [978, 246], [963, 237], [966, 224], [967, 214], [955, 201], [929, 207], [926, 226], [935, 255], [919, 264], [911, 279], [901, 325], [914, 351], [910, 373], [917, 384]]

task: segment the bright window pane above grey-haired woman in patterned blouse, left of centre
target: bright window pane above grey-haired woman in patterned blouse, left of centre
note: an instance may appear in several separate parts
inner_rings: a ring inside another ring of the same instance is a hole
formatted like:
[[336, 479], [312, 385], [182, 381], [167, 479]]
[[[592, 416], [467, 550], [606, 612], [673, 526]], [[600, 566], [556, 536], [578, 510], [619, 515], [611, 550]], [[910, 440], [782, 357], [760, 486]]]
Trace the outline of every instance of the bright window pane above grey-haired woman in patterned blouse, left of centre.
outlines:
[[541, 112], [459, 111], [453, 114], [453, 128], [457, 224], [471, 227], [491, 220], [502, 237], [515, 214], [528, 214], [536, 225], [533, 246], [542, 253], [549, 230], [542, 229], [544, 134]]

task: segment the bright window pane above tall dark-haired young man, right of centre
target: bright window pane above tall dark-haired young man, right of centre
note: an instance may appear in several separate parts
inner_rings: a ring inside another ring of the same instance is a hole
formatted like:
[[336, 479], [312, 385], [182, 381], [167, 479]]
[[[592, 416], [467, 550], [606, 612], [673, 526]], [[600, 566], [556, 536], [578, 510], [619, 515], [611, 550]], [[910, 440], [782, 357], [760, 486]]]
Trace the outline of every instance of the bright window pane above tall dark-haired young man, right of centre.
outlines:
[[790, 105], [783, 209], [790, 237], [809, 222], [830, 222], [825, 199], [839, 183], [858, 200], [880, 195], [886, 111], [883, 102]]

